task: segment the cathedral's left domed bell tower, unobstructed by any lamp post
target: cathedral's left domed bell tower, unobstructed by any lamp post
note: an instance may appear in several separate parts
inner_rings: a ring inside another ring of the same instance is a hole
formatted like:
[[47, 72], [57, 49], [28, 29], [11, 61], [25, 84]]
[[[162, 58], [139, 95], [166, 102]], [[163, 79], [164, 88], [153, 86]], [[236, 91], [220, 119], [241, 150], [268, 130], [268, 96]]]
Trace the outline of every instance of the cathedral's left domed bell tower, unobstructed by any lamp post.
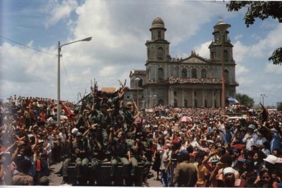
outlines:
[[169, 58], [169, 42], [164, 37], [166, 32], [164, 21], [159, 17], [155, 18], [149, 30], [152, 39], [147, 40], [145, 44], [147, 46], [147, 63], [167, 61]]

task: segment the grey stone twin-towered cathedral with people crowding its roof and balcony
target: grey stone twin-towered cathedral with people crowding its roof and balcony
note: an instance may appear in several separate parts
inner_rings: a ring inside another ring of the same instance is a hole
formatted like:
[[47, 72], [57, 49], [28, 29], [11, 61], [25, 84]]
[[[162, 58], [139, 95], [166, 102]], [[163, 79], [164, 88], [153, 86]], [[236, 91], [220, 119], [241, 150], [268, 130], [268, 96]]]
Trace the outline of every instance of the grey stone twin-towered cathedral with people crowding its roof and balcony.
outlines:
[[[216, 25], [221, 23], [219, 20]], [[202, 58], [195, 51], [186, 58], [172, 58], [164, 20], [155, 18], [149, 29], [152, 37], [145, 43], [146, 70], [130, 70], [130, 89], [125, 93], [125, 101], [133, 99], [140, 108], [159, 104], [212, 108], [222, 106], [222, 95], [226, 99], [235, 97], [239, 84], [235, 80], [233, 45], [228, 30], [220, 33], [215, 28], [209, 58]]]

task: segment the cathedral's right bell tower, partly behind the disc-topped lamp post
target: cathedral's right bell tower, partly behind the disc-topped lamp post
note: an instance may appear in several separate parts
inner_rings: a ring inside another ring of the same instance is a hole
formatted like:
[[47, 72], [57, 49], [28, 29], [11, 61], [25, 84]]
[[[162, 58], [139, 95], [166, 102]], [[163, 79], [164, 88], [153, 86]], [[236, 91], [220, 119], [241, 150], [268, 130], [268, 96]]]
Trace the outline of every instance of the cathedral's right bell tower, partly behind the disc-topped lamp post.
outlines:
[[[216, 25], [223, 23], [220, 19]], [[228, 30], [223, 35], [223, 56], [224, 56], [224, 64], [234, 64], [235, 61], [233, 60], [233, 45], [228, 37]], [[212, 33], [214, 35], [214, 39], [212, 43], [209, 44], [209, 56], [211, 61], [214, 63], [218, 63], [221, 61], [221, 33], [219, 30], [214, 29]]]

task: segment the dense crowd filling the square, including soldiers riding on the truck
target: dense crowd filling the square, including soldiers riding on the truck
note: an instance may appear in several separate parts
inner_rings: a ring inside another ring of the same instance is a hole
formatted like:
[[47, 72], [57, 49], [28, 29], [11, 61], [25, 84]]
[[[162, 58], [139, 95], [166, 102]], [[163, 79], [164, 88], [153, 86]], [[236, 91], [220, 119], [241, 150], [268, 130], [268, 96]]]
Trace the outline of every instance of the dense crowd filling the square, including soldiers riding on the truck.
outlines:
[[[221, 108], [156, 105], [141, 111], [123, 103], [125, 87], [109, 94], [95, 91], [80, 105], [11, 96], [1, 103], [0, 182], [49, 184], [50, 166], [68, 182], [75, 163], [79, 185], [99, 185], [99, 164], [111, 163], [110, 185], [147, 184], [150, 170], [164, 187], [281, 187], [282, 112], [223, 117]], [[118, 163], [123, 173], [117, 173]]]

